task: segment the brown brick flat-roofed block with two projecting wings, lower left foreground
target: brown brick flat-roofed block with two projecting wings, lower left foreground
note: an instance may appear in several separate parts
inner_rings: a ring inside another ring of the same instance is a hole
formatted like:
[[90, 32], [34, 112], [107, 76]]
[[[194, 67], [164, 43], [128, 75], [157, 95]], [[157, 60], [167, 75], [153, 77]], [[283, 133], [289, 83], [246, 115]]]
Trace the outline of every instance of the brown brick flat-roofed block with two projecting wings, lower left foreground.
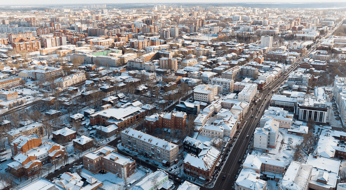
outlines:
[[127, 179], [136, 170], [136, 161], [118, 153], [116, 147], [103, 145], [83, 155], [85, 170], [95, 174], [100, 171], [118, 175], [121, 179]]

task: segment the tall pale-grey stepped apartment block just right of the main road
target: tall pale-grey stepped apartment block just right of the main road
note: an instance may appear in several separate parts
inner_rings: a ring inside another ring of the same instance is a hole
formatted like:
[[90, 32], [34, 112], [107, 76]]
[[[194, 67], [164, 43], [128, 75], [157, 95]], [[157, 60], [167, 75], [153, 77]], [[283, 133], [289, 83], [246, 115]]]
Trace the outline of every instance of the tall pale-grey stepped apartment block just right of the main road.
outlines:
[[267, 148], [275, 148], [279, 136], [279, 121], [270, 119], [263, 127], [257, 127], [254, 132], [254, 149], [266, 151]]

